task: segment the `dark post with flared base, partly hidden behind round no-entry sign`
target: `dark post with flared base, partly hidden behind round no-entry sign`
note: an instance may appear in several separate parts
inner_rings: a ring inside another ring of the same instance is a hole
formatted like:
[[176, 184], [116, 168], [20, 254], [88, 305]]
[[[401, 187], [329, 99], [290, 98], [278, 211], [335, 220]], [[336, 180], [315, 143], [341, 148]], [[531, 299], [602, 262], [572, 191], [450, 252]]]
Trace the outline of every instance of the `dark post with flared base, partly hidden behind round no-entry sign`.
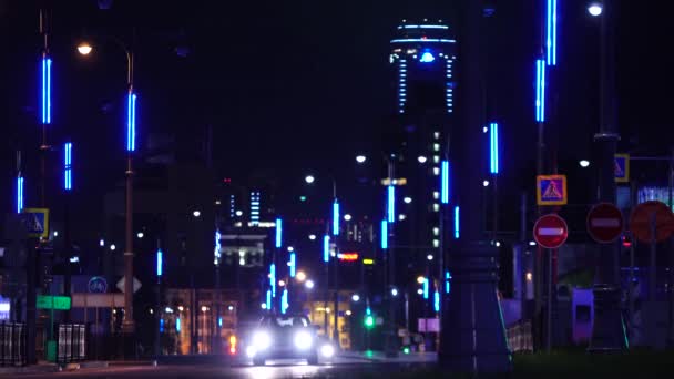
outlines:
[[[594, 135], [599, 155], [598, 202], [615, 204], [615, 151], [620, 136], [615, 107], [615, 4], [604, 0], [601, 16], [601, 114], [600, 131]], [[604, 352], [625, 349], [626, 336], [620, 310], [619, 252], [620, 240], [601, 244], [594, 278], [594, 327], [588, 350]]]

